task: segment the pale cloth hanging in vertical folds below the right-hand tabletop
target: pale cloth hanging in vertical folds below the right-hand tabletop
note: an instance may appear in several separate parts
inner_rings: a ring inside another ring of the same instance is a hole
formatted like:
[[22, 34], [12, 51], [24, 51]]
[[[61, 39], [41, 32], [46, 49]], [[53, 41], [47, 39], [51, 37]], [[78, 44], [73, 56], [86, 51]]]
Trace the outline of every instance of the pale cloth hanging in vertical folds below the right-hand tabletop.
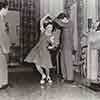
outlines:
[[88, 47], [87, 79], [97, 81], [98, 77], [98, 51]]

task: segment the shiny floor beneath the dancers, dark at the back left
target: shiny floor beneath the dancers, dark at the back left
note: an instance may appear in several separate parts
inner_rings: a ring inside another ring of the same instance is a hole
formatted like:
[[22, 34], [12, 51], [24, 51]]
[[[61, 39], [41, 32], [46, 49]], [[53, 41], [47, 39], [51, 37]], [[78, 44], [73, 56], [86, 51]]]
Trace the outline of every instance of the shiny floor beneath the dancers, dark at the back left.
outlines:
[[9, 87], [0, 90], [0, 100], [100, 100], [78, 83], [69, 84], [53, 77], [53, 84], [39, 84], [38, 72], [10, 72]]

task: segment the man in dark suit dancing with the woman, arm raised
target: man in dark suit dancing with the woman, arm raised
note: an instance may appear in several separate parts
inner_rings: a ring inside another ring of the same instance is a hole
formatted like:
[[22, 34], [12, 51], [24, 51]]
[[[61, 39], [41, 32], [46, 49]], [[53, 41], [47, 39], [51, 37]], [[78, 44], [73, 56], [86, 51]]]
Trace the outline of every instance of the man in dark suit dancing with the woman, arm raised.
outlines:
[[69, 14], [60, 13], [55, 22], [61, 27], [61, 71], [64, 80], [73, 82], [73, 24]]

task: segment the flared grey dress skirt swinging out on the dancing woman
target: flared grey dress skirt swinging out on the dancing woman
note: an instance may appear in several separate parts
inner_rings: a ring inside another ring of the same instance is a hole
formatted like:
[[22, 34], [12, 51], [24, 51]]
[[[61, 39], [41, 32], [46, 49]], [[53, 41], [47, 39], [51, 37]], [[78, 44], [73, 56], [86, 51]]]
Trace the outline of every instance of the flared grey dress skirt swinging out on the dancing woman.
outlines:
[[43, 68], [52, 68], [51, 55], [48, 46], [48, 38], [43, 35], [37, 45], [32, 48], [24, 61], [35, 63]]

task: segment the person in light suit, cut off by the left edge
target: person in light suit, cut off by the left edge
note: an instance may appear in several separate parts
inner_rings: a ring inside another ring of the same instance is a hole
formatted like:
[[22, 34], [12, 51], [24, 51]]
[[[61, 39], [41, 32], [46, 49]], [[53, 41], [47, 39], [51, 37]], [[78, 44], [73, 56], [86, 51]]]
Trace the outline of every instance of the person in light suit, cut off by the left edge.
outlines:
[[6, 33], [4, 18], [8, 12], [8, 2], [0, 1], [0, 88], [8, 85], [7, 54], [10, 42]]

